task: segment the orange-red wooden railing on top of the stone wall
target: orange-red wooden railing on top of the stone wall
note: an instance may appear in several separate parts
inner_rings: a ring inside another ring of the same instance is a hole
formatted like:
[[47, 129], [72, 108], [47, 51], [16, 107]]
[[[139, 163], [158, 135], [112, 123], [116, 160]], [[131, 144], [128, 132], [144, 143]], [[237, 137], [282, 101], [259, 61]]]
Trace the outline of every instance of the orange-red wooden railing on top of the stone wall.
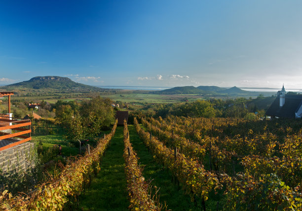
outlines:
[[[21, 118], [8, 117], [8, 115], [0, 114], [0, 141], [8, 138], [22, 138], [22, 140], [16, 139], [11, 144], [0, 147], [0, 151], [22, 144], [24, 142], [32, 140], [31, 137], [31, 120], [25, 120]], [[14, 133], [6, 133], [1, 130], [12, 129]]]

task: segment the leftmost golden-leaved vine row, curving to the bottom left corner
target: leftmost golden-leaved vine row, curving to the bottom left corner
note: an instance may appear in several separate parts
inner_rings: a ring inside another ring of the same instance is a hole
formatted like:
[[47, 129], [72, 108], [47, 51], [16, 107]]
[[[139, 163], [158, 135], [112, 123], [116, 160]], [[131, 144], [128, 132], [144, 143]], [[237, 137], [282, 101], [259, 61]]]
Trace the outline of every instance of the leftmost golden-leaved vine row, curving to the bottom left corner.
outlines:
[[100, 139], [90, 154], [86, 153], [76, 162], [65, 166], [58, 178], [39, 185], [32, 194], [13, 197], [8, 190], [4, 190], [0, 195], [0, 208], [18, 211], [58, 211], [68, 202], [76, 201], [77, 196], [90, 183], [91, 175], [100, 171], [101, 159], [115, 133], [116, 125], [117, 121], [111, 133]]

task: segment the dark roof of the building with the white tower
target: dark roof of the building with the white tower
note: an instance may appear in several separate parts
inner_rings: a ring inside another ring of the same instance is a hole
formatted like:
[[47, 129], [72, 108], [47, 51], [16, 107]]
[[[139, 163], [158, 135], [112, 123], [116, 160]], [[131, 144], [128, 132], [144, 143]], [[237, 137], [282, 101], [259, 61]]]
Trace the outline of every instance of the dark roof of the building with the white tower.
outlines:
[[283, 118], [296, 118], [295, 112], [302, 104], [302, 94], [285, 94], [285, 103], [280, 107], [280, 97], [277, 96], [266, 111], [266, 115]]

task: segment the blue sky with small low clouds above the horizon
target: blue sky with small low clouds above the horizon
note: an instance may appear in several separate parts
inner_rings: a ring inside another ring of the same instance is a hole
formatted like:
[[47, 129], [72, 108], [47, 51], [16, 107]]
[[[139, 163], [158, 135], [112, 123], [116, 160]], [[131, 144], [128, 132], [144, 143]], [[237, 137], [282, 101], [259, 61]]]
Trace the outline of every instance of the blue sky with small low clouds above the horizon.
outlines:
[[302, 89], [302, 1], [0, 2], [0, 84]]

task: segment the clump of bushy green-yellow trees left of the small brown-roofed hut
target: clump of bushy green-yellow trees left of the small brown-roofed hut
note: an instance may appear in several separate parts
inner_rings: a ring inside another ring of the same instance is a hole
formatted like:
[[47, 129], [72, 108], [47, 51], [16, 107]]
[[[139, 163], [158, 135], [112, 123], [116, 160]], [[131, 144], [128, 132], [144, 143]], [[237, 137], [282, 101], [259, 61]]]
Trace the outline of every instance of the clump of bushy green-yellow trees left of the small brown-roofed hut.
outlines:
[[109, 98], [93, 97], [82, 102], [57, 101], [56, 121], [67, 129], [65, 139], [71, 142], [97, 137], [101, 129], [114, 123], [115, 111]]

